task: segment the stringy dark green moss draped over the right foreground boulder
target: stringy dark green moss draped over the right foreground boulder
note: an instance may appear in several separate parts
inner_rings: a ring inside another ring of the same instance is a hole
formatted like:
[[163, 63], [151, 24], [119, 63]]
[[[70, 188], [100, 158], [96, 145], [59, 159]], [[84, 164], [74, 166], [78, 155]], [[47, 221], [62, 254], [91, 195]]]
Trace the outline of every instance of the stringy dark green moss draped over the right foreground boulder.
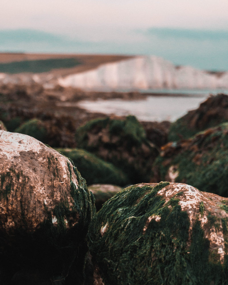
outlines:
[[193, 225], [188, 245], [190, 221], [179, 199], [165, 203], [156, 195], [165, 186], [167, 182], [126, 188], [93, 218], [89, 246], [105, 284], [227, 284], [227, 256], [221, 264], [216, 253], [209, 251], [199, 221]]

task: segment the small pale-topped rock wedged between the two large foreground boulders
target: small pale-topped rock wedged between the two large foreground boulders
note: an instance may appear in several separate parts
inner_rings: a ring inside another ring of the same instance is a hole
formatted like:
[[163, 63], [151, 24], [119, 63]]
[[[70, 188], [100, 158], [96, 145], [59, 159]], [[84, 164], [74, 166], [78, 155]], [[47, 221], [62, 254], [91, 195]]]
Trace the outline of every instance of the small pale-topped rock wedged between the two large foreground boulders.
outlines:
[[112, 198], [123, 188], [111, 184], [93, 184], [88, 186], [95, 197], [95, 207], [97, 212], [101, 209], [103, 203]]

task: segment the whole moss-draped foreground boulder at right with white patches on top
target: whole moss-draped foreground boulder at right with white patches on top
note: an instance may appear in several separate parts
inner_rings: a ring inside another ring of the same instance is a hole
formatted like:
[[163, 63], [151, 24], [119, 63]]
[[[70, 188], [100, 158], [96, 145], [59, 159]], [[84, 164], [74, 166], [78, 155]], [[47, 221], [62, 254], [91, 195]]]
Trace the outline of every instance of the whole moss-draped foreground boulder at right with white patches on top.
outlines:
[[117, 193], [89, 226], [94, 284], [227, 284], [227, 203], [169, 182]]

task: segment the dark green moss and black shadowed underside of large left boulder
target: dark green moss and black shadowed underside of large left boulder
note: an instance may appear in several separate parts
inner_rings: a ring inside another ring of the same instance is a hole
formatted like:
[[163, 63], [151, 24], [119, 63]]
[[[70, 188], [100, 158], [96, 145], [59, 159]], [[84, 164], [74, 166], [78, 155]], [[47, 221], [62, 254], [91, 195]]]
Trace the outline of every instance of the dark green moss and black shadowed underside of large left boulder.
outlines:
[[[58, 176], [57, 165], [56, 157], [50, 153], [46, 169], [50, 180]], [[20, 219], [17, 221], [17, 227], [12, 229], [10, 235], [4, 231], [4, 221], [0, 219], [1, 284], [11, 284], [12, 276], [22, 269], [41, 272], [45, 280], [48, 280], [48, 284], [54, 284], [56, 279], [64, 279], [66, 284], [84, 284], [84, 264], [88, 250], [86, 235], [89, 223], [95, 214], [95, 200], [88, 191], [85, 180], [71, 162], [68, 162], [68, 169], [73, 205], [69, 205], [67, 193], [63, 194], [61, 201], [53, 210], [43, 203], [46, 218], [34, 231], [28, 229], [30, 220], [25, 201], [27, 195], [28, 199], [34, 197], [34, 189], [28, 188], [28, 181], [31, 178], [14, 168], [1, 172], [0, 200], [8, 200], [12, 191], [13, 194], [18, 192], [20, 197], [18, 202], [21, 207], [21, 221]], [[78, 186], [72, 181], [72, 171], [76, 174]], [[26, 196], [25, 186], [30, 191]], [[52, 188], [51, 194], [54, 195], [55, 191], [56, 188]], [[57, 219], [57, 224], [53, 224], [52, 218]], [[2, 277], [3, 272], [5, 277]], [[2, 278], [7, 281], [3, 282]]]

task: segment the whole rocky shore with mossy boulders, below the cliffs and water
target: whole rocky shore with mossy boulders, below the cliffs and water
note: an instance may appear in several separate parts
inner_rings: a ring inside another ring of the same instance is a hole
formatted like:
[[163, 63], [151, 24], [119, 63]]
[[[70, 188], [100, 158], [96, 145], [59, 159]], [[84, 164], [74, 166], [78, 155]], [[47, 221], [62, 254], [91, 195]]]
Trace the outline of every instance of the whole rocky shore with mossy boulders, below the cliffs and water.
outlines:
[[0, 283], [227, 284], [228, 95], [173, 123], [86, 96], [139, 97], [0, 88]]

